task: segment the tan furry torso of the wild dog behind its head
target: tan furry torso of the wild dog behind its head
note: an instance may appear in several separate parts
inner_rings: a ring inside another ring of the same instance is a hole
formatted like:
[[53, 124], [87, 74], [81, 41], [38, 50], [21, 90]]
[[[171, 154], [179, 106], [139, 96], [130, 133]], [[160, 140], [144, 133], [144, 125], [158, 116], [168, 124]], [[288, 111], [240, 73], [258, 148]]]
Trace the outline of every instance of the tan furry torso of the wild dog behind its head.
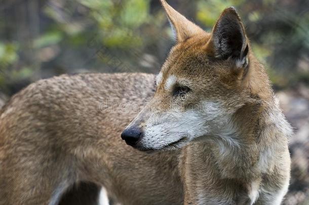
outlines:
[[[76, 181], [103, 185], [123, 204], [181, 203], [179, 151], [149, 155], [120, 138], [151, 98], [153, 80], [62, 75], [15, 95], [0, 116], [0, 204], [48, 204], [61, 183]], [[106, 99], [113, 109], [100, 111]]]

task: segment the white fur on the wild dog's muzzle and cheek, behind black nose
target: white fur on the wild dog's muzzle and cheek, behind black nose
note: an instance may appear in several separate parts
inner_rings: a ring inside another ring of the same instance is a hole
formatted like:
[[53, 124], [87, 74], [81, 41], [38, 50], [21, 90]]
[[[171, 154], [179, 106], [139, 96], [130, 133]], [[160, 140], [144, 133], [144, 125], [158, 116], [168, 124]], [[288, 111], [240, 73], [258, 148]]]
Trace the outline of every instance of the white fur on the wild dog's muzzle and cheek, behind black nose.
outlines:
[[[182, 147], [192, 139], [207, 135], [210, 124], [216, 121], [222, 122], [219, 117], [220, 111], [222, 109], [219, 104], [204, 102], [201, 107], [187, 111], [171, 109], [160, 114], [151, 113], [145, 122], [144, 137], [140, 141], [140, 146], [145, 149]], [[186, 140], [175, 143], [182, 138]]]

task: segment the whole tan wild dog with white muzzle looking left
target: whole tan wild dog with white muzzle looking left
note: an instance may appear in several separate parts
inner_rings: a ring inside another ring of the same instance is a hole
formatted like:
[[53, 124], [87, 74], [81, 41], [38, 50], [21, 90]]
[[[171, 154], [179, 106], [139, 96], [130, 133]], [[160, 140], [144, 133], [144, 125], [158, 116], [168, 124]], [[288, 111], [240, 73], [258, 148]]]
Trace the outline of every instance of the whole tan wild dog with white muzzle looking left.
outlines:
[[208, 33], [161, 3], [176, 45], [157, 76], [61, 75], [2, 108], [0, 204], [55, 205], [78, 182], [129, 205], [282, 202], [292, 129], [236, 9]]

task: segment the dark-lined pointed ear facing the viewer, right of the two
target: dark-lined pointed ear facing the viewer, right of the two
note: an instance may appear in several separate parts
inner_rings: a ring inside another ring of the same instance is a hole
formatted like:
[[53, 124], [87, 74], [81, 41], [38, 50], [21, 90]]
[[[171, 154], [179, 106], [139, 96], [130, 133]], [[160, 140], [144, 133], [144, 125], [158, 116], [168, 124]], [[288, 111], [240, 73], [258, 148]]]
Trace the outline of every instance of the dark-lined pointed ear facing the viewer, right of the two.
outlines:
[[248, 39], [234, 7], [222, 12], [213, 27], [206, 49], [217, 58], [237, 60], [240, 67], [248, 64]]

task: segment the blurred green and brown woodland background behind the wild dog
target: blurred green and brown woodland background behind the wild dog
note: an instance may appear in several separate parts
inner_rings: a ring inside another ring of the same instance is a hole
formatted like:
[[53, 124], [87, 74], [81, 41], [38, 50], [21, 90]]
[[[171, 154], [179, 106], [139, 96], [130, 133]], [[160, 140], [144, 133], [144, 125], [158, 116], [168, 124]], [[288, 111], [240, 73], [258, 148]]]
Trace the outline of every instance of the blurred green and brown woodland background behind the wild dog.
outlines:
[[[237, 8], [295, 128], [285, 204], [309, 204], [309, 1], [168, 2], [207, 31], [224, 8]], [[159, 0], [0, 0], [0, 106], [64, 73], [158, 73], [172, 45]]]

